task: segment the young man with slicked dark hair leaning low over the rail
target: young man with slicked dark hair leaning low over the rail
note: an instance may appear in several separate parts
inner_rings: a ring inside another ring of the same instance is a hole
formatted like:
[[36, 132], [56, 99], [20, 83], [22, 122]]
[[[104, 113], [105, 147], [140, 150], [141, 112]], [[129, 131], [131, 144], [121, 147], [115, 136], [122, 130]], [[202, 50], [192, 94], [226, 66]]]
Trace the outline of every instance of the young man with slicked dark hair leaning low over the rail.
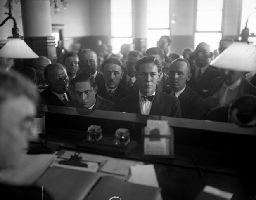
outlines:
[[66, 106], [104, 111], [114, 111], [115, 104], [97, 95], [98, 86], [90, 73], [78, 74], [74, 79], [76, 99]]

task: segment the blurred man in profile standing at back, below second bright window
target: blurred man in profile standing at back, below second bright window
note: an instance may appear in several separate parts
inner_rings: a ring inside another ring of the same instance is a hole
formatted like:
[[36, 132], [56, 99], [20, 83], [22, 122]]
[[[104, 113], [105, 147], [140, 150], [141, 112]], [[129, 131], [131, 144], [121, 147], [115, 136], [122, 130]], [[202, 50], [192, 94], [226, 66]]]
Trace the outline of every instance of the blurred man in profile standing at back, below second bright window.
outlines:
[[163, 35], [160, 37], [159, 41], [157, 41], [157, 47], [162, 49], [164, 51], [164, 54], [173, 60], [180, 57], [179, 54], [171, 51], [171, 37], [168, 35]]

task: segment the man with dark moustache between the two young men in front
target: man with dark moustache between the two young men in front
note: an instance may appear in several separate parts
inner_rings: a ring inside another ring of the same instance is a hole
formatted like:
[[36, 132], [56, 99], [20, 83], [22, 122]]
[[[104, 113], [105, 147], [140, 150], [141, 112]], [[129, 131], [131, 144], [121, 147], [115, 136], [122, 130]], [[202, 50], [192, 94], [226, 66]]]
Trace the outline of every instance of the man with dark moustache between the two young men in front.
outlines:
[[131, 89], [123, 86], [120, 80], [123, 78], [124, 66], [121, 60], [111, 57], [102, 64], [105, 83], [99, 85], [98, 94], [104, 99], [117, 103], [123, 97], [133, 93]]

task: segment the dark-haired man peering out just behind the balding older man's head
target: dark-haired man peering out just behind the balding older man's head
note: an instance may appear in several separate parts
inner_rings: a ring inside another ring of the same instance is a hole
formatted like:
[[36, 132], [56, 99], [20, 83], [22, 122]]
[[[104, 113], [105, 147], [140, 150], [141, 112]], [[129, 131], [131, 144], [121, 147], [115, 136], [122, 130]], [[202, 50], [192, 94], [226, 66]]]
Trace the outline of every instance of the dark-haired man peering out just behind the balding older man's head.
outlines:
[[76, 73], [79, 70], [78, 62], [79, 62], [78, 55], [74, 53], [66, 54], [66, 56], [64, 57], [63, 64], [66, 67], [70, 85], [73, 85], [72, 80], [73, 78], [75, 78]]

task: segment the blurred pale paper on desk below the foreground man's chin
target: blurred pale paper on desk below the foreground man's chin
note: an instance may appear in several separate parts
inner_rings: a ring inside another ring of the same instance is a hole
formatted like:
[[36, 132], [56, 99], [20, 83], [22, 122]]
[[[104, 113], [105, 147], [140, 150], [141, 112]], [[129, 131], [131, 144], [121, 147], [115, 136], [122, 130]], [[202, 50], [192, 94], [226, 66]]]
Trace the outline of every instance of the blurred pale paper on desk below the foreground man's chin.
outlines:
[[0, 172], [0, 182], [32, 184], [45, 172], [56, 157], [56, 155], [52, 154], [27, 155], [24, 153], [21, 156], [21, 163], [17, 168]]

